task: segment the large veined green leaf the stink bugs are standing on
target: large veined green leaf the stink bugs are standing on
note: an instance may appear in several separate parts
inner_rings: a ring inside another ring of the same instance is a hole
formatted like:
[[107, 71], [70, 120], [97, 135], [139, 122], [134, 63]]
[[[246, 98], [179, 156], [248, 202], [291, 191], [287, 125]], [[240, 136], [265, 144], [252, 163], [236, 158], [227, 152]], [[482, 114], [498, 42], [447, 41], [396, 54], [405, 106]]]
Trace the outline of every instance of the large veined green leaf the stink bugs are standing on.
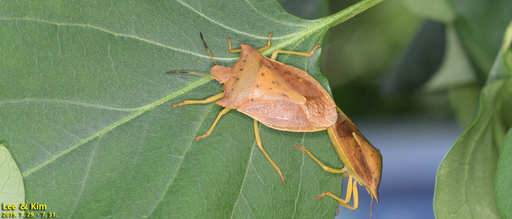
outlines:
[[[260, 126], [279, 175], [255, 145], [252, 120], [224, 115], [198, 142], [221, 107], [172, 109], [221, 91], [207, 73], [231, 65], [238, 47], [309, 52], [328, 28], [383, 0], [364, 0], [317, 20], [297, 18], [273, 1], [0, 2], [0, 140], [23, 174], [27, 202], [57, 216], [332, 217], [341, 175], [327, 173], [293, 144], [341, 167], [327, 133]], [[330, 90], [312, 57], [278, 61], [308, 71]]]

